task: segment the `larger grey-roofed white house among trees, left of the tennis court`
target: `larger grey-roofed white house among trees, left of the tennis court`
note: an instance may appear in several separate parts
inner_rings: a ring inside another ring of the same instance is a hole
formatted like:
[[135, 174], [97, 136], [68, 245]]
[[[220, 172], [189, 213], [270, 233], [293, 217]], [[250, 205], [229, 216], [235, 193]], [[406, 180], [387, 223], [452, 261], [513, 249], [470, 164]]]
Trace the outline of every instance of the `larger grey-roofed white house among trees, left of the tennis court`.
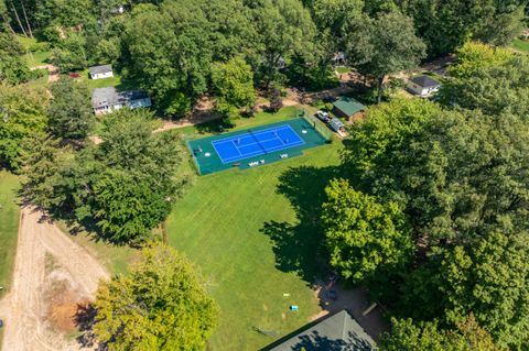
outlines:
[[118, 91], [115, 87], [94, 89], [91, 107], [96, 114], [109, 113], [123, 107], [136, 109], [152, 106], [151, 98], [143, 90]]

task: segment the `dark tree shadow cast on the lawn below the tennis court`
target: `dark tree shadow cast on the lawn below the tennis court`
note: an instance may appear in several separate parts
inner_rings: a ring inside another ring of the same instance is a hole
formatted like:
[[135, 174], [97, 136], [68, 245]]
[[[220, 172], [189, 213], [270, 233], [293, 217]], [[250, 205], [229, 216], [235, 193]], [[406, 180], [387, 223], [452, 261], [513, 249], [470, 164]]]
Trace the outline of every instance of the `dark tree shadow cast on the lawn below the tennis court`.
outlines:
[[342, 174], [338, 166], [301, 166], [285, 171], [279, 177], [277, 193], [290, 200], [298, 223], [269, 221], [260, 230], [272, 241], [277, 268], [298, 273], [311, 286], [330, 271], [320, 219], [325, 187]]

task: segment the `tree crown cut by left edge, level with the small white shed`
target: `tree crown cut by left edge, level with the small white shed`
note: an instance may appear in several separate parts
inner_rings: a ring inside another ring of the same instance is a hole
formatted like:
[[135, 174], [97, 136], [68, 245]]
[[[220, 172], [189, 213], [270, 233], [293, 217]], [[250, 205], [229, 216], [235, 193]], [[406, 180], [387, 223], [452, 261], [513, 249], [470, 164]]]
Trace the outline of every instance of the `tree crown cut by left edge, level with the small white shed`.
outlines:
[[17, 37], [0, 29], [0, 81], [19, 84], [29, 80], [30, 69], [23, 55]]

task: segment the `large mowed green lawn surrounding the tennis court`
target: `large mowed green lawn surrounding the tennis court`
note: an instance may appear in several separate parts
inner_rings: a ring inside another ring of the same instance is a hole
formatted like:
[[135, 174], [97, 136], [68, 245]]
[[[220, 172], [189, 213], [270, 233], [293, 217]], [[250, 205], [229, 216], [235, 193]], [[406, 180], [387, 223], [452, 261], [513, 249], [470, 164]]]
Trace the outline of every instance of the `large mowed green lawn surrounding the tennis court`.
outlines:
[[[237, 129], [294, 117], [294, 110], [261, 113]], [[208, 350], [258, 350], [320, 311], [307, 283], [317, 271], [311, 243], [319, 233], [300, 224], [305, 210], [299, 205], [316, 204], [311, 200], [321, 187], [311, 185], [328, 179], [311, 175], [338, 164], [339, 147], [335, 141], [296, 158], [198, 177], [176, 204], [166, 221], [170, 243], [196, 264], [220, 307]], [[298, 186], [306, 204], [296, 200]], [[290, 311], [290, 305], [300, 310]], [[280, 334], [263, 336], [255, 327]]]

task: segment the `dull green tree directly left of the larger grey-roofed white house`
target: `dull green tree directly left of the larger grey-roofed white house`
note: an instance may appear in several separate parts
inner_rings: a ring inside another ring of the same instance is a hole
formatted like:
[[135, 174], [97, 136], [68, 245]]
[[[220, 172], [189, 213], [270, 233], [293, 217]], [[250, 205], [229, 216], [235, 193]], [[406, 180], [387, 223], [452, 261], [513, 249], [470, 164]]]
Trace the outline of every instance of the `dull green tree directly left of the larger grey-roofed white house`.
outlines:
[[88, 88], [69, 77], [62, 77], [50, 87], [53, 98], [48, 107], [50, 132], [56, 138], [84, 139], [95, 122]]

